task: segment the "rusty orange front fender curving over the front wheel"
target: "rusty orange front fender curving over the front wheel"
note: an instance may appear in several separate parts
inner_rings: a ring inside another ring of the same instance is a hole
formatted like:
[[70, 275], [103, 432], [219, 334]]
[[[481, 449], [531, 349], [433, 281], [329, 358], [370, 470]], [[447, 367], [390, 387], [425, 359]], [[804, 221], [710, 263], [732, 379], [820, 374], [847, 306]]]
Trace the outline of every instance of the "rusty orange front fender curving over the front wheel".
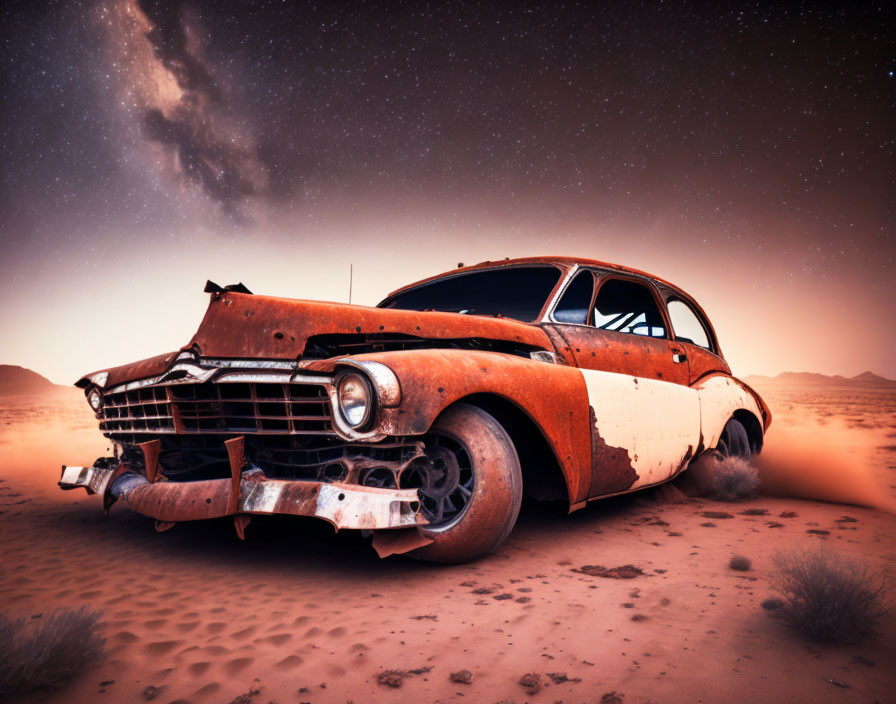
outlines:
[[[389, 367], [401, 401], [380, 411], [385, 435], [422, 435], [448, 406], [472, 394], [494, 394], [515, 404], [538, 427], [557, 458], [571, 504], [591, 486], [588, 391], [575, 367], [508, 354], [469, 350], [406, 350], [351, 357]], [[339, 360], [327, 360], [333, 367]]]

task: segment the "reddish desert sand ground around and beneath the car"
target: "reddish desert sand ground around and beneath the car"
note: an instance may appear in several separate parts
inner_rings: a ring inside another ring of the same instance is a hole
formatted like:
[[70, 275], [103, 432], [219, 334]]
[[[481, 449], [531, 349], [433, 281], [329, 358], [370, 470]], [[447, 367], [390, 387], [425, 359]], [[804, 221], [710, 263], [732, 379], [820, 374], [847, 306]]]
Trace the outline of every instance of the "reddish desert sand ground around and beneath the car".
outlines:
[[[835, 442], [852, 463], [841, 484], [861, 474], [882, 502], [896, 497], [894, 394], [764, 391], [771, 454], [787, 433]], [[107, 519], [96, 497], [55, 486], [61, 464], [105, 454], [94, 422], [79, 393], [0, 400], [0, 603], [34, 618], [88, 605], [108, 640], [106, 660], [47, 702], [143, 702], [148, 685], [163, 704], [258, 689], [244, 701], [892, 701], [896, 616], [874, 641], [827, 646], [760, 606], [779, 549], [824, 542], [892, 579], [887, 512], [642, 493], [570, 516], [524, 505], [507, 543], [472, 565], [379, 560], [360, 535], [310, 519], [256, 519], [246, 542], [226, 520], [157, 534], [121, 507]], [[796, 493], [813, 495], [811, 482]], [[729, 569], [734, 554], [752, 569]], [[643, 576], [575, 571], [626, 564]], [[377, 681], [387, 669], [417, 672], [392, 688]], [[450, 680], [461, 669], [471, 683]], [[520, 685], [527, 673], [540, 692]]]

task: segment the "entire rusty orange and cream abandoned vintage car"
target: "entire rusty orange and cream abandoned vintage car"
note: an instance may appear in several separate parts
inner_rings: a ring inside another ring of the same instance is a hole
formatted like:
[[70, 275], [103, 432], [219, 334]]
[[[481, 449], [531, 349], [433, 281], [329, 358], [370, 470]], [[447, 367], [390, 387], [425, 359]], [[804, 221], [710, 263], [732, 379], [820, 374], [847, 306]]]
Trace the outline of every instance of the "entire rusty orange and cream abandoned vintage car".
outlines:
[[575, 510], [749, 457], [771, 422], [700, 306], [621, 266], [484, 262], [375, 308], [206, 291], [189, 344], [77, 382], [114, 456], [62, 488], [159, 530], [316, 516], [457, 562], [501, 544], [524, 493]]

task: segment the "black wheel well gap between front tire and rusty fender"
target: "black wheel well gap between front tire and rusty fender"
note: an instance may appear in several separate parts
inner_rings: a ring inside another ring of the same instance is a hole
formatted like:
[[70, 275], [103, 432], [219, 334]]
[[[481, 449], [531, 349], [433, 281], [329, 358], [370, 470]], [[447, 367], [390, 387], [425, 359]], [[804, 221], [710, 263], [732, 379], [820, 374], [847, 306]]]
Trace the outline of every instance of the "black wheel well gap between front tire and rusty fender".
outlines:
[[569, 500], [566, 479], [554, 451], [541, 429], [519, 406], [494, 394], [473, 394], [458, 402], [481, 408], [507, 431], [520, 458], [526, 496], [539, 501]]

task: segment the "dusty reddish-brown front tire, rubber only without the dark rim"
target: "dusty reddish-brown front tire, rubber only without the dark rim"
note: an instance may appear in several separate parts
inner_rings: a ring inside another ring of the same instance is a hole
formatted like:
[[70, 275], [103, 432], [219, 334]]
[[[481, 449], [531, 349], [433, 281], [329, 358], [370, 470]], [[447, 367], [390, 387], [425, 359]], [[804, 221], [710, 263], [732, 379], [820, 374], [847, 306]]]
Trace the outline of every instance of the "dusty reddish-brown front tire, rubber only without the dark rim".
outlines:
[[451, 520], [419, 527], [420, 535], [433, 542], [409, 554], [431, 562], [483, 557], [510, 535], [520, 512], [523, 477], [516, 448], [497, 420], [465, 403], [443, 412], [430, 433], [459, 446], [472, 470], [472, 495]]

